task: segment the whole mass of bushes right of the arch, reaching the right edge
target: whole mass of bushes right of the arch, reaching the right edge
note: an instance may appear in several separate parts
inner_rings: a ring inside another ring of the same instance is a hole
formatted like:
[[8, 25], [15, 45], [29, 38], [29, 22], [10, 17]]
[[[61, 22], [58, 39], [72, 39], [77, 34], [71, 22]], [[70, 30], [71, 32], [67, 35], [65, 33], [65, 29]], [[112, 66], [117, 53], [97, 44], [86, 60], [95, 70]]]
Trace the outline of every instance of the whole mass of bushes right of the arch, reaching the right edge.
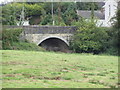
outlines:
[[120, 55], [120, 9], [113, 18], [112, 27], [97, 27], [96, 20], [91, 12], [91, 18], [86, 20], [81, 17], [73, 25], [77, 26], [77, 31], [71, 41], [71, 49], [77, 53], [106, 53], [110, 55]]

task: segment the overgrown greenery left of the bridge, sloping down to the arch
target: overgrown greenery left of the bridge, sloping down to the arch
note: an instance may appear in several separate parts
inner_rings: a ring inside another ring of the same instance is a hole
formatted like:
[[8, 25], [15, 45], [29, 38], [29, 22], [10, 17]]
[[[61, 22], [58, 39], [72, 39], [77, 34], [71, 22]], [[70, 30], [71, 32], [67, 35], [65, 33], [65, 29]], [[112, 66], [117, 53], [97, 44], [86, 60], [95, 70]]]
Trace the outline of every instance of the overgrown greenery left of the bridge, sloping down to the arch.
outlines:
[[22, 33], [22, 29], [20, 28], [4, 29], [2, 33], [2, 49], [4, 50], [44, 51], [44, 49], [33, 43], [20, 41], [19, 38]]

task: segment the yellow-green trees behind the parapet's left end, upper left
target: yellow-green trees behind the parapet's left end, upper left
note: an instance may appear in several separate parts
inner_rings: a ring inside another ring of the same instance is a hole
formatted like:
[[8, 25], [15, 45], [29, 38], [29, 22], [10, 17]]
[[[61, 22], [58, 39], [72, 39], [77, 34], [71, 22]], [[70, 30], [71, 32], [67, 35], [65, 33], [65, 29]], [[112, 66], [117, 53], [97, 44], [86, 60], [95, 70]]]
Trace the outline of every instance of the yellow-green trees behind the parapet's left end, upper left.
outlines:
[[16, 25], [20, 21], [22, 8], [25, 8], [25, 19], [30, 21], [34, 16], [44, 14], [43, 4], [12, 3], [2, 6], [3, 25]]

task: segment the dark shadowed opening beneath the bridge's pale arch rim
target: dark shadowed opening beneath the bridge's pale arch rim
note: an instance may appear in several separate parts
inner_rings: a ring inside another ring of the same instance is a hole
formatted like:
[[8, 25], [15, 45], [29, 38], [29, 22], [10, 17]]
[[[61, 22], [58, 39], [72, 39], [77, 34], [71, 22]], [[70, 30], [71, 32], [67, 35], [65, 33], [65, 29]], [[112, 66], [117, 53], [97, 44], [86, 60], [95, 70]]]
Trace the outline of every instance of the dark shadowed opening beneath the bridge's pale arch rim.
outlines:
[[42, 41], [39, 46], [48, 50], [48, 51], [60, 51], [60, 52], [67, 52], [68, 45], [59, 38], [48, 38]]

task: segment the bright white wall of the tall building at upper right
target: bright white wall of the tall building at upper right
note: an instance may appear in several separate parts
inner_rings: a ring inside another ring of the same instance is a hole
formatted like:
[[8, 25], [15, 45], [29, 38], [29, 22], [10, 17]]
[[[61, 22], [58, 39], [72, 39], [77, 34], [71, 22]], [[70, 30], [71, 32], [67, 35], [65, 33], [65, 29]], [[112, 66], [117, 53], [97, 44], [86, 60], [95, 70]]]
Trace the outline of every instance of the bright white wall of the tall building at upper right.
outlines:
[[112, 26], [111, 19], [115, 17], [118, 3], [116, 0], [106, 0], [104, 8], [105, 20], [98, 20], [97, 26], [110, 27]]

